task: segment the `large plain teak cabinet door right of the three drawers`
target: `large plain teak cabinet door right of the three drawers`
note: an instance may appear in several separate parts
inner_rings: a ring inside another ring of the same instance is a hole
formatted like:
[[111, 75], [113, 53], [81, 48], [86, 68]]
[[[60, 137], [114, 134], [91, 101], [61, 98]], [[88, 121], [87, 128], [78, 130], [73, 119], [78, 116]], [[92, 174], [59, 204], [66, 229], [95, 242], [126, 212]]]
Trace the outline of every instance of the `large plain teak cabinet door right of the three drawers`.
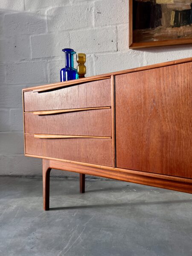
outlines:
[[192, 178], [192, 62], [115, 82], [116, 166]]

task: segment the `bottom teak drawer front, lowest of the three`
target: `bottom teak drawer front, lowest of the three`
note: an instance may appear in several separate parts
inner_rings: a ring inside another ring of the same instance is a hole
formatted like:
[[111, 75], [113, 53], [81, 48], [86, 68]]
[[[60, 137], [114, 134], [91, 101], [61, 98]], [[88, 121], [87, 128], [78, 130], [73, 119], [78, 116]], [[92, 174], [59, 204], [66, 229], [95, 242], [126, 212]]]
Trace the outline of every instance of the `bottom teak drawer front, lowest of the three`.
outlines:
[[57, 159], [112, 165], [111, 139], [70, 138], [40, 139], [25, 134], [26, 154]]

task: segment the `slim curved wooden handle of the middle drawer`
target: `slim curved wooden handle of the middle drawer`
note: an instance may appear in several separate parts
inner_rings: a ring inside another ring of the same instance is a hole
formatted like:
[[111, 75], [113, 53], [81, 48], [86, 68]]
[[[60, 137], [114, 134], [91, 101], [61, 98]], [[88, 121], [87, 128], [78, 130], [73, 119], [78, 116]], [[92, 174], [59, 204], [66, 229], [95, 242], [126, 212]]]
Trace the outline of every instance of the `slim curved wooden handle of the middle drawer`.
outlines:
[[107, 109], [107, 108], [111, 108], [111, 107], [73, 108], [73, 109], [34, 111], [33, 114], [38, 115], [38, 116], [42, 116], [42, 115], [52, 115], [52, 114], [58, 114], [58, 113], [78, 112], [78, 111], [95, 110], [95, 109]]

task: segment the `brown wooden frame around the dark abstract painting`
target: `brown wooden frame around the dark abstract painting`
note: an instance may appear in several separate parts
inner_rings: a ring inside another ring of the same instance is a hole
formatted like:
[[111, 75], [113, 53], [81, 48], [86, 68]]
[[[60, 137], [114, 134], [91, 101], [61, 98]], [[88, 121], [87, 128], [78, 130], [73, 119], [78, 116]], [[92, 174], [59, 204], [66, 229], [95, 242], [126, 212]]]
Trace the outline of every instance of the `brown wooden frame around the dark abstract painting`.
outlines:
[[179, 45], [179, 44], [192, 44], [192, 38], [178, 38], [161, 41], [147, 41], [147, 42], [134, 42], [133, 39], [133, 1], [129, 0], [129, 49]]

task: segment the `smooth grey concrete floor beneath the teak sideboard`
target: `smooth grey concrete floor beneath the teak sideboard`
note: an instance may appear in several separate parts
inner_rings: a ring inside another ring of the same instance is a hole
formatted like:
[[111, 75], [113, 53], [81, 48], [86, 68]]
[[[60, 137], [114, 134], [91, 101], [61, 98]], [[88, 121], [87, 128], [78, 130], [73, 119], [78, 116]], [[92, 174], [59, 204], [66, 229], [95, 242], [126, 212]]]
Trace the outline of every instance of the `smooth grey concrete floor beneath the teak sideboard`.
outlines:
[[0, 177], [0, 256], [192, 256], [192, 195], [133, 183]]

